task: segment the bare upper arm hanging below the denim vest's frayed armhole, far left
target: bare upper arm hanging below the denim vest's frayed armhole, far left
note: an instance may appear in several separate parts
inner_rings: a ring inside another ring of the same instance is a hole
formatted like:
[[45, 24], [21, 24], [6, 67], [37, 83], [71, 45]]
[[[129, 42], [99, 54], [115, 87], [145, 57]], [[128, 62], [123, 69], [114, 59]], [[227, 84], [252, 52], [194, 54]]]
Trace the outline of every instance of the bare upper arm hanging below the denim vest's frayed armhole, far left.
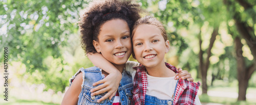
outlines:
[[79, 73], [74, 79], [74, 81], [72, 82], [72, 85], [69, 87], [69, 89], [65, 93], [63, 100], [61, 102], [61, 105], [77, 104], [78, 96], [81, 92], [82, 81], [83, 81], [82, 73]]

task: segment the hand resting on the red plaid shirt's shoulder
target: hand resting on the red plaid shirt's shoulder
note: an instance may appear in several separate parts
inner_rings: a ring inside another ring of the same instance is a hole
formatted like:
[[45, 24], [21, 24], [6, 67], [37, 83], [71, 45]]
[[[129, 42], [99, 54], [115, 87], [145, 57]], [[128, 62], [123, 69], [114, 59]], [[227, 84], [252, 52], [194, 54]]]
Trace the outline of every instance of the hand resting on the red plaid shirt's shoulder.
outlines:
[[176, 77], [174, 78], [175, 80], [181, 78], [182, 80], [187, 79], [187, 81], [191, 81], [191, 82], [194, 81], [194, 79], [191, 77], [191, 74], [188, 73], [187, 71], [182, 71], [181, 68], [178, 68], [178, 71], [179, 71], [179, 73], [178, 73], [178, 75], [176, 75]]

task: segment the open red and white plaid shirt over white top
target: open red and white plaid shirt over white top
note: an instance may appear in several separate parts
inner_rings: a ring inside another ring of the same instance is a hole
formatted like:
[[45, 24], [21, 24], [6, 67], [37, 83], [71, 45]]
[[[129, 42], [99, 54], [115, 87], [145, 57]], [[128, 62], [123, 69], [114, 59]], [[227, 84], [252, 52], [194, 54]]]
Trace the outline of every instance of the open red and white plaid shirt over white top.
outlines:
[[[178, 73], [178, 69], [165, 62], [165, 65], [174, 71], [175, 73]], [[137, 72], [134, 77], [134, 87], [133, 87], [133, 99], [132, 104], [140, 105], [144, 104], [145, 101], [145, 95], [146, 95], [146, 87], [147, 87], [147, 77], [146, 77], [146, 68], [143, 65], [139, 65], [137, 67], [133, 67], [134, 69], [137, 69]], [[187, 80], [179, 80], [175, 98], [174, 98], [174, 104], [195, 104], [195, 98], [198, 92], [200, 86], [200, 82], [194, 83]]]

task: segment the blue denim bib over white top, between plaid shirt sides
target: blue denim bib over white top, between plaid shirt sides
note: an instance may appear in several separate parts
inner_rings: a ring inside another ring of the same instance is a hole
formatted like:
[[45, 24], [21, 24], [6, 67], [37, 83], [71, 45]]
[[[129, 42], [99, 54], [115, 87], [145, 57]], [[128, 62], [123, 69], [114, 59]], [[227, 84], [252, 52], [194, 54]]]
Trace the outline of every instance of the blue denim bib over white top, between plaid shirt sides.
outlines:
[[159, 99], [155, 96], [146, 95], [145, 96], [145, 105], [156, 105], [156, 104], [173, 104], [172, 100]]

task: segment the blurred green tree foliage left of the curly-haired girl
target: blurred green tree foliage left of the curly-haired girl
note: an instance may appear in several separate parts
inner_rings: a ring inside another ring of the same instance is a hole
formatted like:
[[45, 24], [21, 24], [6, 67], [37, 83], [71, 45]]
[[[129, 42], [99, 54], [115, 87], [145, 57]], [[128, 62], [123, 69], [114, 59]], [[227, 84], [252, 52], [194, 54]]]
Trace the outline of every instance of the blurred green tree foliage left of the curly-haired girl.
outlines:
[[8, 47], [9, 61], [26, 65], [29, 82], [64, 91], [73, 67], [65, 69], [71, 64], [63, 58], [63, 48], [74, 41], [70, 36], [78, 37], [78, 12], [87, 5], [71, 0], [1, 1], [0, 26], [4, 31], [0, 32], [0, 52]]

